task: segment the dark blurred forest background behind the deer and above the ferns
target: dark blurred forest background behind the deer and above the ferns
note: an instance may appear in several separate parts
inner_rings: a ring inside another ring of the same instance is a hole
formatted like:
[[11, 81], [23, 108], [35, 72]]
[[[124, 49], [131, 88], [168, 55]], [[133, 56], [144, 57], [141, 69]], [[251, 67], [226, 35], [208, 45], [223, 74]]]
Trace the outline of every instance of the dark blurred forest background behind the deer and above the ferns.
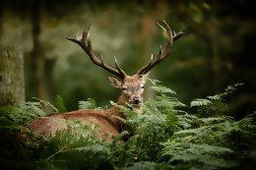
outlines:
[[[92, 24], [96, 54], [109, 65], [115, 56], [132, 75], [164, 44], [157, 26], [164, 20], [186, 34], [150, 77], [175, 90], [187, 105], [242, 83], [227, 98], [226, 112], [241, 118], [255, 111], [253, 1], [2, 0], [0, 5], [2, 48], [14, 45], [24, 52], [27, 101], [37, 97], [52, 102], [60, 94], [68, 110], [87, 98], [95, 98], [102, 107], [115, 101], [120, 91], [108, 84], [108, 73], [66, 36]], [[147, 89], [146, 98], [153, 96]]]

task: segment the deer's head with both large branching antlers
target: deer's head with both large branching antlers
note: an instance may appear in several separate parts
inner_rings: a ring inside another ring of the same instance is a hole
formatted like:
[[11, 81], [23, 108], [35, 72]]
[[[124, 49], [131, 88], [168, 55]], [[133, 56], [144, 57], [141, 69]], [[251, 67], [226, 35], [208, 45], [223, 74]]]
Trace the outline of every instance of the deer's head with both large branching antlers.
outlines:
[[79, 35], [77, 35], [76, 38], [67, 37], [67, 39], [79, 44], [82, 47], [82, 49], [88, 54], [90, 59], [96, 64], [96, 66], [101, 67], [110, 74], [113, 74], [117, 78], [119, 78], [116, 79], [112, 77], [107, 77], [112, 86], [120, 88], [122, 90], [122, 93], [117, 101], [117, 104], [126, 106], [128, 104], [129, 106], [132, 106], [134, 108], [141, 109], [144, 85], [146, 83], [149, 72], [166, 57], [166, 55], [172, 48], [173, 41], [178, 39], [184, 33], [182, 31], [179, 31], [178, 33], [175, 33], [175, 31], [172, 32], [169, 26], [164, 21], [162, 22], [164, 24], [164, 27], [160, 26], [160, 24], [158, 25], [167, 34], [168, 40], [166, 44], [162, 49], [160, 48], [160, 52], [155, 58], [152, 55], [151, 61], [148, 65], [140, 69], [133, 76], [126, 75], [126, 73], [118, 65], [115, 57], [115, 68], [105, 65], [102, 61], [102, 56], [101, 58], [96, 57], [96, 54], [93, 51], [92, 42], [89, 39], [89, 29], [91, 28], [91, 26], [85, 28], [82, 38]]

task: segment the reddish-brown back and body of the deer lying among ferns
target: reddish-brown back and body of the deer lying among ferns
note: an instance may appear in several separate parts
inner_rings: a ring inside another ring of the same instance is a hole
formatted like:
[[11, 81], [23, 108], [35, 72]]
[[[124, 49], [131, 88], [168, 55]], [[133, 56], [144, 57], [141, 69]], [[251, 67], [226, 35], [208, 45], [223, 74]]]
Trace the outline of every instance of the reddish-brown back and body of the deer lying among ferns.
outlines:
[[114, 107], [106, 110], [77, 110], [38, 118], [32, 121], [27, 128], [35, 134], [52, 138], [57, 131], [68, 129], [67, 121], [78, 121], [81, 125], [89, 127], [95, 124], [96, 131], [93, 133], [99, 138], [108, 140], [115, 138], [121, 131], [125, 130], [123, 123], [115, 116], [123, 117], [123, 114]]

